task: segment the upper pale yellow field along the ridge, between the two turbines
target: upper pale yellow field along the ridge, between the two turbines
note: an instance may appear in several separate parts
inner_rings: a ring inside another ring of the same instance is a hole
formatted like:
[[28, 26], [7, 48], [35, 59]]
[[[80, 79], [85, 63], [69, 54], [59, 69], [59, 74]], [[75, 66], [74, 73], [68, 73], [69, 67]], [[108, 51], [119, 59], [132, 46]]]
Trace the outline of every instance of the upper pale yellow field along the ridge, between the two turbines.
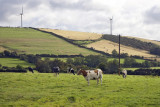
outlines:
[[66, 31], [58, 29], [44, 29], [44, 28], [41, 28], [40, 30], [53, 32], [55, 34], [61, 35], [65, 38], [72, 40], [96, 40], [102, 37], [102, 34], [97, 34], [97, 33]]

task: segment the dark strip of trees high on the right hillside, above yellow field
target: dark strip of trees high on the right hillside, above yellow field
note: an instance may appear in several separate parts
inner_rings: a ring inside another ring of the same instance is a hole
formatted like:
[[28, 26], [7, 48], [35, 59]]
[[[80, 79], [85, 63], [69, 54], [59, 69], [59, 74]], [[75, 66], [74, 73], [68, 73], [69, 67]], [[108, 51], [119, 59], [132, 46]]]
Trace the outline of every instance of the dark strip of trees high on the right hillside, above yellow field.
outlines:
[[[116, 35], [103, 35], [102, 36], [103, 39], [115, 42], [115, 43], [119, 43], [119, 36]], [[160, 56], [160, 46], [151, 43], [151, 42], [143, 42], [141, 40], [138, 39], [134, 39], [134, 38], [127, 38], [127, 37], [122, 37], [120, 38], [120, 42], [122, 45], [125, 46], [131, 46], [133, 48], [138, 48], [138, 49], [142, 49], [142, 50], [147, 50], [149, 51], [151, 54], [154, 55], [159, 55]]]

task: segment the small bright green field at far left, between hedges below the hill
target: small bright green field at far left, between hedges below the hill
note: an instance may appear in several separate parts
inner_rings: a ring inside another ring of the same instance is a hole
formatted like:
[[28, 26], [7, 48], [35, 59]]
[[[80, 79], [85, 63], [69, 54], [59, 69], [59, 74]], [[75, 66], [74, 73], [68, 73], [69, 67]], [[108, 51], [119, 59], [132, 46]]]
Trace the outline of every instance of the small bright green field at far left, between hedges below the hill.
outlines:
[[7, 67], [16, 67], [17, 65], [21, 65], [23, 67], [29, 67], [29, 66], [35, 67], [34, 64], [25, 62], [18, 58], [0, 58], [0, 64], [2, 66], [7, 66]]

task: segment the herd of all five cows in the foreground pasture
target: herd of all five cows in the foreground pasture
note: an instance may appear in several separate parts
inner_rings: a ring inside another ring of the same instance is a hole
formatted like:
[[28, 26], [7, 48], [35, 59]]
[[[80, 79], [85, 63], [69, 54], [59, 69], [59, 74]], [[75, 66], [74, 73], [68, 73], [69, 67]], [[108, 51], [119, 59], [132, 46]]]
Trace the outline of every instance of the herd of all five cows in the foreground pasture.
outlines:
[[[34, 73], [33, 68], [28, 67], [28, 70], [31, 71], [32, 73]], [[59, 75], [60, 68], [58, 66], [53, 67], [52, 73], [55, 73], [55, 76]], [[75, 75], [75, 71], [72, 67], [68, 68], [67, 73], [72, 73], [73, 75]], [[95, 69], [95, 70], [82, 70], [82, 69], [80, 69], [77, 72], [77, 75], [83, 75], [83, 77], [87, 80], [88, 85], [90, 85], [90, 80], [97, 80], [97, 85], [98, 85], [99, 79], [100, 79], [101, 85], [102, 85], [103, 71], [101, 69]], [[122, 70], [122, 77], [123, 78], [127, 77], [126, 70]]]

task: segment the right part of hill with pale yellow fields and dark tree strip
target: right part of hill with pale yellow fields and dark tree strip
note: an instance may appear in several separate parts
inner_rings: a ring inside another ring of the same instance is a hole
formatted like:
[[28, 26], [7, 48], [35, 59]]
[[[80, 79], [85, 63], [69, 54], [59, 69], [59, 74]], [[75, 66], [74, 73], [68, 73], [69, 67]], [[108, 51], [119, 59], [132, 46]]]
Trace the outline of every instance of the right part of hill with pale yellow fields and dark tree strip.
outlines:
[[[75, 31], [64, 31], [55, 29], [40, 29], [58, 34], [66, 39], [72, 39], [74, 43], [83, 45], [85, 47], [102, 51], [111, 54], [116, 49], [118, 51], [118, 37], [115, 35], [95, 35], [94, 33], [81, 33]], [[82, 35], [83, 34], [83, 35]], [[92, 36], [91, 36], [92, 35]], [[91, 39], [92, 38], [92, 39]], [[92, 42], [87, 42], [92, 40]], [[77, 41], [77, 42], [76, 42]], [[80, 43], [79, 43], [80, 42]], [[160, 42], [147, 40], [142, 38], [121, 36], [121, 53], [128, 53], [129, 55], [143, 56], [147, 59], [155, 58], [156, 55], [150, 54], [149, 50], [152, 47], [160, 46]], [[156, 58], [158, 59], [158, 58]]]

